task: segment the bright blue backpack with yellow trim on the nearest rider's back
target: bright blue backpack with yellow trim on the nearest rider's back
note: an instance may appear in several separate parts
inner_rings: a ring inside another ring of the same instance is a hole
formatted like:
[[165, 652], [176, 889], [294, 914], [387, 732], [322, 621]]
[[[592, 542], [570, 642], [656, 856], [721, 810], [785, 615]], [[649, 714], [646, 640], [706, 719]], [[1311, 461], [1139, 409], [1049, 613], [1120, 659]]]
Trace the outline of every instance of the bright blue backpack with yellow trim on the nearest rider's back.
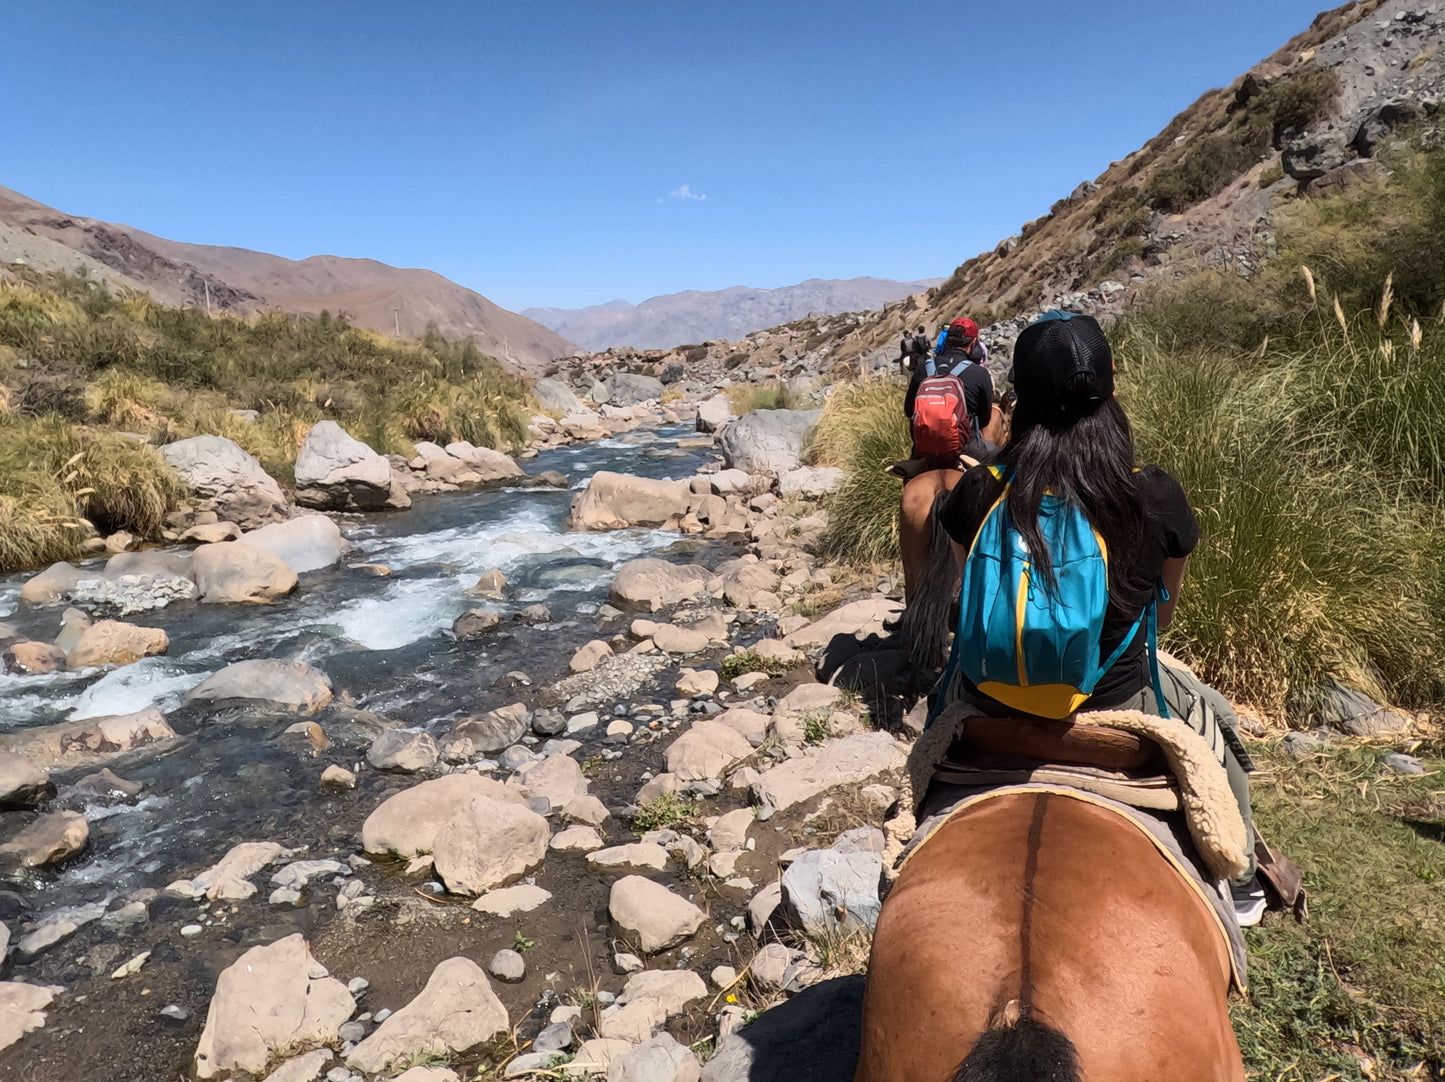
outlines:
[[[944, 695], [955, 673], [984, 695], [1023, 714], [1066, 718], [1094, 692], [1140, 627], [1149, 636], [1149, 666], [1159, 712], [1169, 717], [1159, 680], [1157, 601], [1150, 598], [1139, 620], [1108, 657], [1100, 657], [1108, 608], [1108, 548], [1084, 513], [1052, 494], [1039, 506], [1039, 533], [1053, 561], [1055, 589], [1032, 578], [1023, 537], [1009, 517], [1010, 480], [988, 508], [964, 561], [958, 628], [944, 670]], [[1159, 587], [1168, 600], [1168, 591]]]

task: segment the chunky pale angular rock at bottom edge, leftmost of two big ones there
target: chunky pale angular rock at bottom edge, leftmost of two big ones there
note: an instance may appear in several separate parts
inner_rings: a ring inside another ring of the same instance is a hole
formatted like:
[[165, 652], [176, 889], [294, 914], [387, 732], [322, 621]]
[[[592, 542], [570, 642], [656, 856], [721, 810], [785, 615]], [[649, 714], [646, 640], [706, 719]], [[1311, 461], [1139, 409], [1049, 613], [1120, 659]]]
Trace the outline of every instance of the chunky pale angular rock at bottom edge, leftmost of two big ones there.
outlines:
[[[312, 977], [319, 971], [321, 977]], [[195, 1073], [259, 1075], [280, 1049], [299, 1052], [340, 1040], [355, 1001], [341, 981], [316, 966], [298, 933], [253, 946], [221, 971], [195, 1049]]]

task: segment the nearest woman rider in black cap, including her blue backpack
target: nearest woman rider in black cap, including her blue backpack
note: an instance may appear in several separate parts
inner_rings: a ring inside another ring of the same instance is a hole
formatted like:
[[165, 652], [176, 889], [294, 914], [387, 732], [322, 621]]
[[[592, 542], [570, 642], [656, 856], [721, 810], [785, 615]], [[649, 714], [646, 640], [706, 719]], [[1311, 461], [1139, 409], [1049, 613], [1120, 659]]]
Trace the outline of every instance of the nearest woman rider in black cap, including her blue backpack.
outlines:
[[[936, 510], [962, 571], [954, 656], [938, 695], [996, 717], [1065, 718], [1087, 704], [1183, 718], [1218, 741], [1248, 826], [1251, 764], [1234, 709], [1188, 669], [1160, 665], [1155, 650], [1199, 524], [1178, 481], [1136, 465], [1100, 325], [1051, 312], [1026, 328], [1014, 347], [1014, 390], [997, 464], [965, 472]], [[1010, 584], [1014, 572], [1026, 589]], [[1241, 925], [1263, 913], [1253, 861], [1234, 901]]]

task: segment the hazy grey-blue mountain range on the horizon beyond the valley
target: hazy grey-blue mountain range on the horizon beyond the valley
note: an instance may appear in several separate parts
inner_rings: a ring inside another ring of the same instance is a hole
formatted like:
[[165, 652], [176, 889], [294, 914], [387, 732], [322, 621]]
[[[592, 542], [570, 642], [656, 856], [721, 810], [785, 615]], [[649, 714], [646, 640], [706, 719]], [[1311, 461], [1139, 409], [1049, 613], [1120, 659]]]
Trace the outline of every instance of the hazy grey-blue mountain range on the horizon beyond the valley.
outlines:
[[780, 289], [689, 289], [655, 296], [640, 305], [611, 300], [591, 308], [529, 308], [522, 315], [588, 350], [605, 350], [611, 345], [668, 350], [720, 338], [734, 341], [809, 313], [873, 311], [939, 282], [942, 279], [893, 282], [881, 277], [812, 277]]

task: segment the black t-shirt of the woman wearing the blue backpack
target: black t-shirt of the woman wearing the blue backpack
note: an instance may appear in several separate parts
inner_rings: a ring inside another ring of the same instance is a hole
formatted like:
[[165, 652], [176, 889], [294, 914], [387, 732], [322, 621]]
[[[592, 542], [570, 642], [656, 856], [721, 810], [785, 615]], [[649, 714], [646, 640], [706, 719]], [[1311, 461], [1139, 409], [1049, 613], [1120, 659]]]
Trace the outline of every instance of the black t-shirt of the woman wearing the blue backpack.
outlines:
[[[1194, 508], [1189, 507], [1189, 498], [1179, 482], [1159, 467], [1144, 467], [1139, 471], [1137, 480], [1139, 497], [1144, 506], [1144, 533], [1131, 559], [1121, 561], [1120, 553], [1110, 553], [1110, 578], [1123, 575], [1124, 581], [1110, 584], [1117, 587], [1120, 604], [1117, 607], [1110, 604], [1104, 615], [1101, 660], [1124, 641], [1129, 628], [1149, 604], [1165, 561], [1182, 559], [1199, 543], [1199, 521], [1194, 517]], [[939, 521], [948, 534], [967, 549], [1001, 491], [1001, 481], [987, 468], [975, 467], [954, 485], [939, 513]], [[1114, 667], [1100, 678], [1088, 705], [1092, 709], [1117, 706], [1147, 685], [1147, 636], [1140, 627]]]

